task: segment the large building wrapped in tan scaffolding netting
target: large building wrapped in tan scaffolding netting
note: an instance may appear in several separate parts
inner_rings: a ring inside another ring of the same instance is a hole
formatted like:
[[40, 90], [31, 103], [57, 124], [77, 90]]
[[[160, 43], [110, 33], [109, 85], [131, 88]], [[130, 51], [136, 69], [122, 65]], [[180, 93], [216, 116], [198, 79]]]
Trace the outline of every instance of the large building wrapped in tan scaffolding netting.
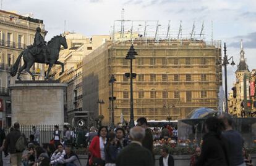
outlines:
[[[113, 38], [117, 36], [113, 34]], [[106, 42], [83, 58], [83, 108], [89, 111], [89, 123], [100, 113], [105, 117], [104, 124], [111, 121], [111, 74], [116, 77], [114, 122], [129, 121], [130, 81], [124, 73], [130, 72], [130, 61], [125, 57], [131, 44], [138, 53], [133, 60], [133, 73], [137, 74], [133, 85], [134, 119], [181, 119], [195, 108], [217, 109], [222, 84], [220, 41], [144, 38], [139, 30], [137, 34], [138, 38], [130, 34], [129, 38]], [[100, 106], [98, 100], [105, 103]]]

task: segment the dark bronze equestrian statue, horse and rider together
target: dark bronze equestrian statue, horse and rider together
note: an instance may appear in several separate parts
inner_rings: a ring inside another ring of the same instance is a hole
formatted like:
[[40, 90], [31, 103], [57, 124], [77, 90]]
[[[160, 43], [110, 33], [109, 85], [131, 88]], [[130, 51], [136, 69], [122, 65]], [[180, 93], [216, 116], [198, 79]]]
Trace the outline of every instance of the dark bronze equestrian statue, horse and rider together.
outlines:
[[30, 68], [33, 66], [34, 63], [43, 63], [48, 64], [48, 71], [46, 73], [46, 79], [49, 77], [49, 72], [53, 67], [53, 64], [61, 65], [62, 73], [64, 73], [64, 64], [59, 59], [59, 50], [61, 49], [61, 45], [64, 49], [67, 49], [67, 41], [65, 36], [59, 35], [54, 36], [46, 45], [43, 36], [40, 34], [41, 29], [38, 27], [36, 28], [36, 35], [34, 39], [33, 45], [29, 45], [27, 49], [23, 50], [17, 60], [12, 66], [11, 69], [11, 76], [14, 77], [18, 71], [20, 59], [23, 56], [24, 65], [19, 68], [17, 79], [20, 79], [20, 73], [25, 69], [27, 73], [32, 76], [32, 79], [35, 80], [35, 76], [30, 71]]

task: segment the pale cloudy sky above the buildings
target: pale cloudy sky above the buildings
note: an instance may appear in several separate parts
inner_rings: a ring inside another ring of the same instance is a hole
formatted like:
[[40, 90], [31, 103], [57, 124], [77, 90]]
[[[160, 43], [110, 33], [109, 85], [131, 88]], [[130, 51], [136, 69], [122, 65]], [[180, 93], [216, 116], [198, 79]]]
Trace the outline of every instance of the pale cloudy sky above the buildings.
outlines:
[[[15, 10], [17, 14], [33, 13], [44, 21], [48, 32], [46, 40], [64, 31], [85, 34], [109, 34], [114, 20], [121, 19], [124, 8], [126, 20], [159, 20], [172, 30], [190, 31], [195, 22], [199, 32], [205, 21], [205, 39], [226, 42], [228, 55], [239, 63], [239, 42], [244, 40], [245, 57], [249, 69], [255, 69], [256, 51], [256, 1], [255, 0], [2, 0], [3, 10]], [[228, 67], [229, 89], [234, 82], [237, 67]], [[223, 74], [224, 75], [224, 74]]]

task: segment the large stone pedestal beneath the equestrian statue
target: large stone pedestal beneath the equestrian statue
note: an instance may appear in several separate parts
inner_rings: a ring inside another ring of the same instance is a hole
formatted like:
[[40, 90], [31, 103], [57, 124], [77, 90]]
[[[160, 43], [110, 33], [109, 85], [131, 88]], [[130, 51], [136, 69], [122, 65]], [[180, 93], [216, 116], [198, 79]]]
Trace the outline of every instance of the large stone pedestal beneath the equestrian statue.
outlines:
[[64, 91], [58, 81], [16, 81], [10, 86], [12, 125], [64, 123]]

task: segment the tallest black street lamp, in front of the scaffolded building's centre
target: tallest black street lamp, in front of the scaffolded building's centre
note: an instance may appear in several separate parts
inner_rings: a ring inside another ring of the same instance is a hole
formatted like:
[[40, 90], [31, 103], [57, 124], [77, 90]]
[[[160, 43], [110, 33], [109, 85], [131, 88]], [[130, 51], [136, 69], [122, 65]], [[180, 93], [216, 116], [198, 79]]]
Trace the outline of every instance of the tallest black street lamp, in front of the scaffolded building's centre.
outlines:
[[130, 122], [129, 127], [134, 127], [134, 97], [133, 97], [133, 90], [132, 90], [132, 79], [135, 79], [136, 73], [132, 73], [132, 60], [135, 59], [135, 55], [138, 55], [135, 52], [134, 45], [130, 46], [129, 51], [126, 55], [126, 60], [130, 60], [130, 73], [125, 73], [127, 78], [130, 78]]

